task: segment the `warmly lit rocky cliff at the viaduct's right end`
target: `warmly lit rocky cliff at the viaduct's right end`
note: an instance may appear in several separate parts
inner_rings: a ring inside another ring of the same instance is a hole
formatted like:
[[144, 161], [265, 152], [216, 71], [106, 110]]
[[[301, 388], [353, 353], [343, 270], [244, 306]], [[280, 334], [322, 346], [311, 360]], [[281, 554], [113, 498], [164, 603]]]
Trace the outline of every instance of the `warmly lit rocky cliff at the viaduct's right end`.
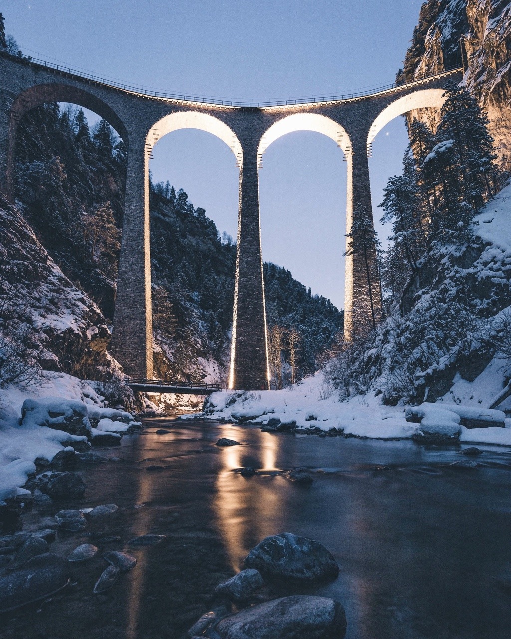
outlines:
[[[511, 3], [508, 0], [428, 0], [398, 74], [409, 82], [454, 66], [487, 112], [501, 166], [511, 168]], [[436, 112], [411, 112], [430, 127]]]

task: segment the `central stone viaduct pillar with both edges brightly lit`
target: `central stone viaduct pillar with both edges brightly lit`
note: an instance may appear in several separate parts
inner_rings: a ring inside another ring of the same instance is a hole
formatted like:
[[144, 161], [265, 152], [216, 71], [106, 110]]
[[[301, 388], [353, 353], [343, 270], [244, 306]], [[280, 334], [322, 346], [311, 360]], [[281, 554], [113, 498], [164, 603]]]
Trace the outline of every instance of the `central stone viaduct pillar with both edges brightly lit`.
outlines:
[[257, 144], [243, 147], [229, 388], [268, 390], [268, 345], [259, 217]]

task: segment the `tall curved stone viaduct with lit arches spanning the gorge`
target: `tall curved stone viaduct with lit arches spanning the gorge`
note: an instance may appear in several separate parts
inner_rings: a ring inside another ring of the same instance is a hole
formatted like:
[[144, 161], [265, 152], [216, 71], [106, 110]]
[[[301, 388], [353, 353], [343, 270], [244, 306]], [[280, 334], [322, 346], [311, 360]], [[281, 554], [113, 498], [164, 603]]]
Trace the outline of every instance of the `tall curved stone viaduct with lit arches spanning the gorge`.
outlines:
[[[181, 128], [216, 135], [240, 168], [236, 283], [229, 387], [268, 389], [266, 312], [259, 222], [259, 167], [271, 142], [309, 130], [335, 141], [347, 160], [347, 229], [370, 220], [368, 152], [393, 118], [415, 109], [439, 108], [456, 69], [371, 95], [314, 102], [233, 104], [144, 93], [79, 72], [0, 54], [0, 190], [14, 197], [16, 133], [24, 114], [45, 102], [70, 102], [106, 119], [128, 148], [125, 214], [119, 261], [112, 350], [126, 373], [153, 373], [148, 165], [160, 137]], [[339, 249], [341, 250], [341, 249]], [[381, 317], [376, 256], [346, 256], [345, 332], [349, 338]]]

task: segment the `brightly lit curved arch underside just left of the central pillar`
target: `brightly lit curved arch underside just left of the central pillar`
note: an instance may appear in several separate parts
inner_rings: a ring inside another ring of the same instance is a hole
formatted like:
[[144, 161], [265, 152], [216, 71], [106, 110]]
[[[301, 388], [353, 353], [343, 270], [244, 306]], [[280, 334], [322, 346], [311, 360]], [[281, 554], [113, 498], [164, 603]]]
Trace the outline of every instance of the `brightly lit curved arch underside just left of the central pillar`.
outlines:
[[161, 137], [183, 128], [195, 128], [218, 137], [233, 151], [236, 162], [241, 165], [243, 151], [241, 143], [233, 130], [222, 120], [200, 111], [176, 111], [158, 120], [150, 129], [146, 138], [146, 149], [150, 151]]

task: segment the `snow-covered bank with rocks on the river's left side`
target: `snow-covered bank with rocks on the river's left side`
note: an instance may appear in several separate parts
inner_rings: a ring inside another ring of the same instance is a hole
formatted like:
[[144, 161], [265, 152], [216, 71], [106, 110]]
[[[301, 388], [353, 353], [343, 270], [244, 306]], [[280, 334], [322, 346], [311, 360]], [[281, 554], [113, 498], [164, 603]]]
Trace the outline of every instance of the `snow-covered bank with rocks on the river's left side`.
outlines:
[[[23, 404], [33, 410], [21, 424]], [[36, 458], [52, 461], [69, 443], [87, 442], [86, 435], [41, 426], [45, 422], [57, 426], [59, 417], [52, 419], [50, 415], [73, 409], [86, 420], [99, 420], [93, 435], [122, 433], [128, 425], [121, 419], [133, 420], [129, 413], [105, 408], [91, 384], [63, 373], [45, 373], [38, 385], [25, 389], [11, 386], [0, 390], [0, 502], [24, 492], [21, 487], [27, 475], [36, 470]]]

